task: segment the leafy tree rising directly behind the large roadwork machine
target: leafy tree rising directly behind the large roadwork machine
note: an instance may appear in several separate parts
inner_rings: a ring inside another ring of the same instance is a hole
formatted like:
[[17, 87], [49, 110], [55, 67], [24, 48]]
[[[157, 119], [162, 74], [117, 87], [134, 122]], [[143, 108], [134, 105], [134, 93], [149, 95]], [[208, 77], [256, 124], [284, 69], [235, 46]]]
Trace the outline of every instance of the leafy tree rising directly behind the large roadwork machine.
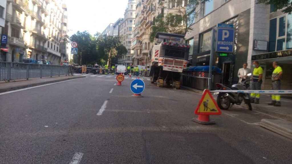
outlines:
[[[203, 0], [209, 1], [209, 0]], [[150, 33], [150, 41], [154, 41], [157, 32], [168, 32], [175, 34], [187, 34], [193, 30], [193, 24], [197, 13], [200, 13], [200, 8], [197, 6], [201, 0], [165, 0], [161, 1], [158, 8], [164, 11], [170, 11], [168, 14], [159, 14], [155, 18], [154, 25]], [[175, 7], [173, 6], [175, 4]]]

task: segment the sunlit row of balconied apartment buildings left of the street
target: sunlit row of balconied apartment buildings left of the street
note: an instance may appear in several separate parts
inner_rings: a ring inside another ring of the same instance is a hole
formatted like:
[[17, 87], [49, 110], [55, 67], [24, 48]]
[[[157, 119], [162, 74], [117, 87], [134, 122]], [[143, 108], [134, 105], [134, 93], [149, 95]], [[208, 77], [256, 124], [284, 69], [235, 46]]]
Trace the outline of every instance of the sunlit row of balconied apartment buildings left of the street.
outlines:
[[67, 32], [67, 7], [62, 0], [9, 0], [2, 29], [9, 38], [8, 52], [1, 51], [1, 60], [22, 62], [32, 58], [60, 65], [67, 60], [63, 43]]

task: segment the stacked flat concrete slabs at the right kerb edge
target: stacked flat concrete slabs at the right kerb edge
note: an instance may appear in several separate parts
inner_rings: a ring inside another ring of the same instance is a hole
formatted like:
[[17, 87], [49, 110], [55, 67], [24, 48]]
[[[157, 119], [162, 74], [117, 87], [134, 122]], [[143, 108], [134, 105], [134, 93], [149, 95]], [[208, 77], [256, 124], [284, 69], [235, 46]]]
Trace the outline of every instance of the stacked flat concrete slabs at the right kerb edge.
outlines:
[[262, 119], [260, 126], [292, 139], [292, 122], [286, 120]]

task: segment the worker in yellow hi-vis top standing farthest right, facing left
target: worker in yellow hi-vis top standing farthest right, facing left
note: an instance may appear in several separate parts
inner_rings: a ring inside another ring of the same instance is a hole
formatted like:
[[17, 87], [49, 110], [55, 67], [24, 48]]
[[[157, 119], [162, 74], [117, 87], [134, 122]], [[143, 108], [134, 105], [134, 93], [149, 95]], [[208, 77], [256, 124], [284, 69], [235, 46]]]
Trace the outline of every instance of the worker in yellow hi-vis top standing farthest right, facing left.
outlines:
[[[282, 78], [282, 68], [279, 66], [278, 62], [273, 62], [273, 67], [275, 68], [272, 74], [272, 90], [281, 90], [281, 78]], [[275, 107], [281, 107], [281, 96], [272, 95], [272, 102], [269, 105]]]

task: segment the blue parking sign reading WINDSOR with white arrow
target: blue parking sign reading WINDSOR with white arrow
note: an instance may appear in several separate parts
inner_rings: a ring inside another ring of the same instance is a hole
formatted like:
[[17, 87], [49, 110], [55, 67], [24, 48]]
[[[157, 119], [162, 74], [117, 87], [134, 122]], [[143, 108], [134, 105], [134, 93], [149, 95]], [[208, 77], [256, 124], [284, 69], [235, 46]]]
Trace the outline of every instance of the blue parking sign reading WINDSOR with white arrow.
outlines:
[[233, 53], [234, 48], [234, 29], [217, 28], [217, 52]]

